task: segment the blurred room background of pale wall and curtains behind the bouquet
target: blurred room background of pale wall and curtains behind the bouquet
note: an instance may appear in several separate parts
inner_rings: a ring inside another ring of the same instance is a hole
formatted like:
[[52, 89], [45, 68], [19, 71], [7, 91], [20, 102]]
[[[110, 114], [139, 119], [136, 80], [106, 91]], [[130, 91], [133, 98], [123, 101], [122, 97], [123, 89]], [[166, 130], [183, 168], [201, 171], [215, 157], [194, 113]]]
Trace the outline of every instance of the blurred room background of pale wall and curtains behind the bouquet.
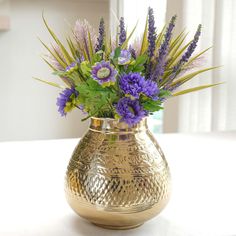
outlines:
[[202, 63], [223, 65], [186, 87], [226, 82], [170, 99], [164, 111], [149, 118], [150, 129], [156, 134], [236, 130], [235, 0], [0, 0], [0, 141], [80, 137], [88, 126], [81, 123], [80, 111], [61, 118], [56, 107], [59, 90], [32, 79], [57, 80], [40, 58], [46, 51], [37, 37], [52, 42], [42, 11], [63, 41], [76, 19], [86, 18], [97, 30], [102, 16], [112, 34], [120, 16], [125, 17], [128, 31], [138, 20], [137, 36], [143, 31], [148, 6], [155, 11], [158, 30], [177, 14], [175, 32], [186, 28], [191, 39], [202, 23], [198, 51], [213, 46]]

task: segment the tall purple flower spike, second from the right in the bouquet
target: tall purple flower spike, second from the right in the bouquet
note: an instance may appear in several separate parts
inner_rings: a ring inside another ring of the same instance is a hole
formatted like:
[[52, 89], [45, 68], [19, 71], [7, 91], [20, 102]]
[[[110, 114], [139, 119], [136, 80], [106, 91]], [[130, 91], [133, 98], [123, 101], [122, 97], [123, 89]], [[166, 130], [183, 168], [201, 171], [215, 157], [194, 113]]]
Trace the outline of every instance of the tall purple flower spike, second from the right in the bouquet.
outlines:
[[172, 16], [170, 23], [167, 27], [165, 36], [164, 36], [164, 41], [159, 49], [159, 55], [157, 58], [157, 65], [156, 65], [155, 71], [152, 75], [152, 80], [155, 80], [157, 82], [159, 82], [161, 80], [161, 77], [163, 76], [164, 71], [165, 71], [166, 56], [168, 55], [169, 43], [170, 43], [170, 39], [172, 36], [172, 31], [175, 27], [176, 17], [177, 17], [176, 15]]

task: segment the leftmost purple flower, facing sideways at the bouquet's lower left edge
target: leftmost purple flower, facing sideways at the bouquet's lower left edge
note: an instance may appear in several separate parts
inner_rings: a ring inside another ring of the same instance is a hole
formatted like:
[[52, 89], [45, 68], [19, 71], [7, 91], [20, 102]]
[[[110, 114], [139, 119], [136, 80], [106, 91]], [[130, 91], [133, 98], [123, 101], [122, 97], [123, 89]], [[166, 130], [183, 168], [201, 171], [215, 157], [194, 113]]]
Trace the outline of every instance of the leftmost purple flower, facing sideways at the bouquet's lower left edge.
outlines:
[[67, 112], [76, 107], [75, 99], [78, 95], [79, 93], [73, 87], [66, 88], [60, 93], [57, 98], [57, 106], [61, 116], [66, 116]]

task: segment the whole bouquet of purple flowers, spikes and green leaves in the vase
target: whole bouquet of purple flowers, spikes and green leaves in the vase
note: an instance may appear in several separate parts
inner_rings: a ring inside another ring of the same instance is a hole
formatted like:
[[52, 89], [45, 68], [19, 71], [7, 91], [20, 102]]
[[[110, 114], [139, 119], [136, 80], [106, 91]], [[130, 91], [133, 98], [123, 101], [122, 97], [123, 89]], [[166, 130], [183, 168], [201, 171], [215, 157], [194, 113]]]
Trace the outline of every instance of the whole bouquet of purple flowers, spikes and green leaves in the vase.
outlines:
[[55, 41], [52, 47], [41, 41], [50, 53], [44, 61], [64, 85], [38, 80], [62, 89], [57, 99], [62, 116], [78, 108], [86, 115], [83, 120], [92, 116], [115, 118], [132, 126], [163, 109], [170, 97], [216, 85], [177, 91], [196, 75], [215, 68], [193, 71], [209, 49], [193, 55], [201, 25], [194, 38], [185, 43], [184, 31], [173, 37], [176, 16], [158, 33], [153, 10], [149, 8], [141, 40], [132, 42], [136, 27], [128, 35], [123, 17], [115, 39], [106, 32], [103, 18], [98, 34], [86, 20], [78, 20], [72, 30], [73, 38], [67, 38], [66, 49], [44, 17], [43, 20]]

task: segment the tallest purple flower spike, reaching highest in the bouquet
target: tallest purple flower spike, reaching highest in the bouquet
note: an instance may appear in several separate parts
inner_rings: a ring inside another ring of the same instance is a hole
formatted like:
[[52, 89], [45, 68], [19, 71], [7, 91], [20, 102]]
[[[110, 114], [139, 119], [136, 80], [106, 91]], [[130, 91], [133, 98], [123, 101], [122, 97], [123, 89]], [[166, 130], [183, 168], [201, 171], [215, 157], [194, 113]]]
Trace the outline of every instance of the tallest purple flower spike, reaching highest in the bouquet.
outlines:
[[154, 55], [156, 44], [156, 27], [153, 15], [153, 9], [148, 8], [148, 56], [151, 58]]

